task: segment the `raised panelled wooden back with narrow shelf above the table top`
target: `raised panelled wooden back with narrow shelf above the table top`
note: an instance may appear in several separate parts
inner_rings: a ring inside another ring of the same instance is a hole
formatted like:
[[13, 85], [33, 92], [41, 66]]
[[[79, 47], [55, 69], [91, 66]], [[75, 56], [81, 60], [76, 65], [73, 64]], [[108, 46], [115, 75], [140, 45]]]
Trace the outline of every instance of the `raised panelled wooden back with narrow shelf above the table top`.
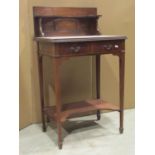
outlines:
[[34, 7], [35, 36], [96, 35], [96, 8]]

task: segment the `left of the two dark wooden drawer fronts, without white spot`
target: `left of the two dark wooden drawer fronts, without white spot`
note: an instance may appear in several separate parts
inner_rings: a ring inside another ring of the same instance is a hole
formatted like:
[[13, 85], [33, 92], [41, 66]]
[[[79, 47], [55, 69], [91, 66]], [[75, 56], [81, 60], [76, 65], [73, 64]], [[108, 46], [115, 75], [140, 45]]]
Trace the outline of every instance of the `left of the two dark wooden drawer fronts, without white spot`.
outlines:
[[56, 45], [57, 56], [79, 56], [90, 52], [88, 43], [59, 43]]

